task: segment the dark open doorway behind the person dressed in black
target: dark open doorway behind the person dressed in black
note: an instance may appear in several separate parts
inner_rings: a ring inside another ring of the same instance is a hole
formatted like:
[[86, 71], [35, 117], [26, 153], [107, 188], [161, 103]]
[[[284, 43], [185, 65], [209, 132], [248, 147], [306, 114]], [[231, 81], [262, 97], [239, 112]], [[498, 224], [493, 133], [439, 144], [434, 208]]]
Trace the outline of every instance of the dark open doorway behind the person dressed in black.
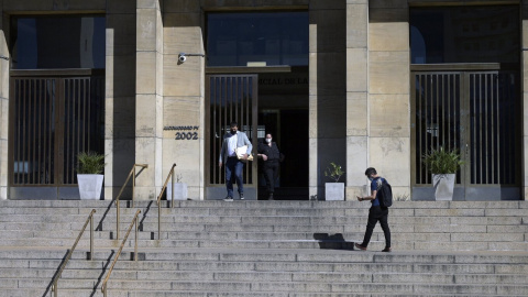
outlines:
[[[275, 199], [308, 199], [308, 67], [288, 74], [258, 76], [258, 142], [272, 133], [285, 160], [280, 163]], [[258, 162], [258, 198], [266, 199]]]

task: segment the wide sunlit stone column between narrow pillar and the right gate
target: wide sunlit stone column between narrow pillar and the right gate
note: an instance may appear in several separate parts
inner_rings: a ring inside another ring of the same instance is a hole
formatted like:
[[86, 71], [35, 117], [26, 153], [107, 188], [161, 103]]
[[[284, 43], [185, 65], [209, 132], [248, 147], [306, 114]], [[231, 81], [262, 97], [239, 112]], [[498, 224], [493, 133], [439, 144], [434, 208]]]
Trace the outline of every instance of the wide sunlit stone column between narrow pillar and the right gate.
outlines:
[[406, 0], [369, 1], [369, 166], [410, 197], [410, 53]]

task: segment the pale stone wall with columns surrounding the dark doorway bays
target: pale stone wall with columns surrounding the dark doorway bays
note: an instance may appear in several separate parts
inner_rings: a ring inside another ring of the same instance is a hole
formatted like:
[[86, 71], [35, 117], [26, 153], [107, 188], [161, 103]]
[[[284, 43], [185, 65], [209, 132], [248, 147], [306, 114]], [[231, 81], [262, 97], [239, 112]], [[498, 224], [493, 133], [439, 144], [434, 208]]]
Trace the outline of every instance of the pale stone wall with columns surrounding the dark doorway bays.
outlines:
[[[205, 53], [208, 11], [306, 9], [309, 194], [323, 197], [324, 169], [336, 162], [346, 172], [346, 199], [364, 191], [369, 166], [391, 182], [396, 197], [405, 197], [411, 176], [408, 2], [415, 1], [2, 0], [0, 55], [10, 56], [11, 13], [106, 13], [106, 199], [117, 196], [134, 163], [150, 166], [138, 176], [138, 198], [155, 198], [176, 163], [189, 198], [204, 199], [206, 61], [189, 56], [178, 63], [178, 54]], [[521, 1], [522, 48], [528, 47], [527, 3]], [[0, 58], [0, 199], [8, 197], [9, 69], [9, 61]], [[524, 102], [527, 89], [524, 75]], [[198, 127], [198, 140], [176, 140], [164, 127]], [[526, 197], [526, 117], [524, 128]]]

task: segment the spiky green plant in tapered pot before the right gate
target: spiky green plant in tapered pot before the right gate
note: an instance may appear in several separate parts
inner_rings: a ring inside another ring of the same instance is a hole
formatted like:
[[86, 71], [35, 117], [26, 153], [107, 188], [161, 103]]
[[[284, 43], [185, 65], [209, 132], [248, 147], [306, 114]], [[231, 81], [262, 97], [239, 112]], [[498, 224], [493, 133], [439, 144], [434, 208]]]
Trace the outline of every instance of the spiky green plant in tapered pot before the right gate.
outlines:
[[427, 169], [432, 174], [432, 186], [437, 200], [453, 200], [457, 172], [463, 162], [457, 150], [446, 150], [440, 146], [422, 155]]

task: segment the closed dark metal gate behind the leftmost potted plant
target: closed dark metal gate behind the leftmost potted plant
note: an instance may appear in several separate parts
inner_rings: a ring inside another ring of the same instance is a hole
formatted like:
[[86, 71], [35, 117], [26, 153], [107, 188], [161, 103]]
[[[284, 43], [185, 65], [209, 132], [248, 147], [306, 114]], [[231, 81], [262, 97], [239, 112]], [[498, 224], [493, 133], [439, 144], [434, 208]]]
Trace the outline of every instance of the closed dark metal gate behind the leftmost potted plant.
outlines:
[[11, 73], [12, 198], [78, 197], [77, 154], [103, 152], [103, 76], [91, 70]]

